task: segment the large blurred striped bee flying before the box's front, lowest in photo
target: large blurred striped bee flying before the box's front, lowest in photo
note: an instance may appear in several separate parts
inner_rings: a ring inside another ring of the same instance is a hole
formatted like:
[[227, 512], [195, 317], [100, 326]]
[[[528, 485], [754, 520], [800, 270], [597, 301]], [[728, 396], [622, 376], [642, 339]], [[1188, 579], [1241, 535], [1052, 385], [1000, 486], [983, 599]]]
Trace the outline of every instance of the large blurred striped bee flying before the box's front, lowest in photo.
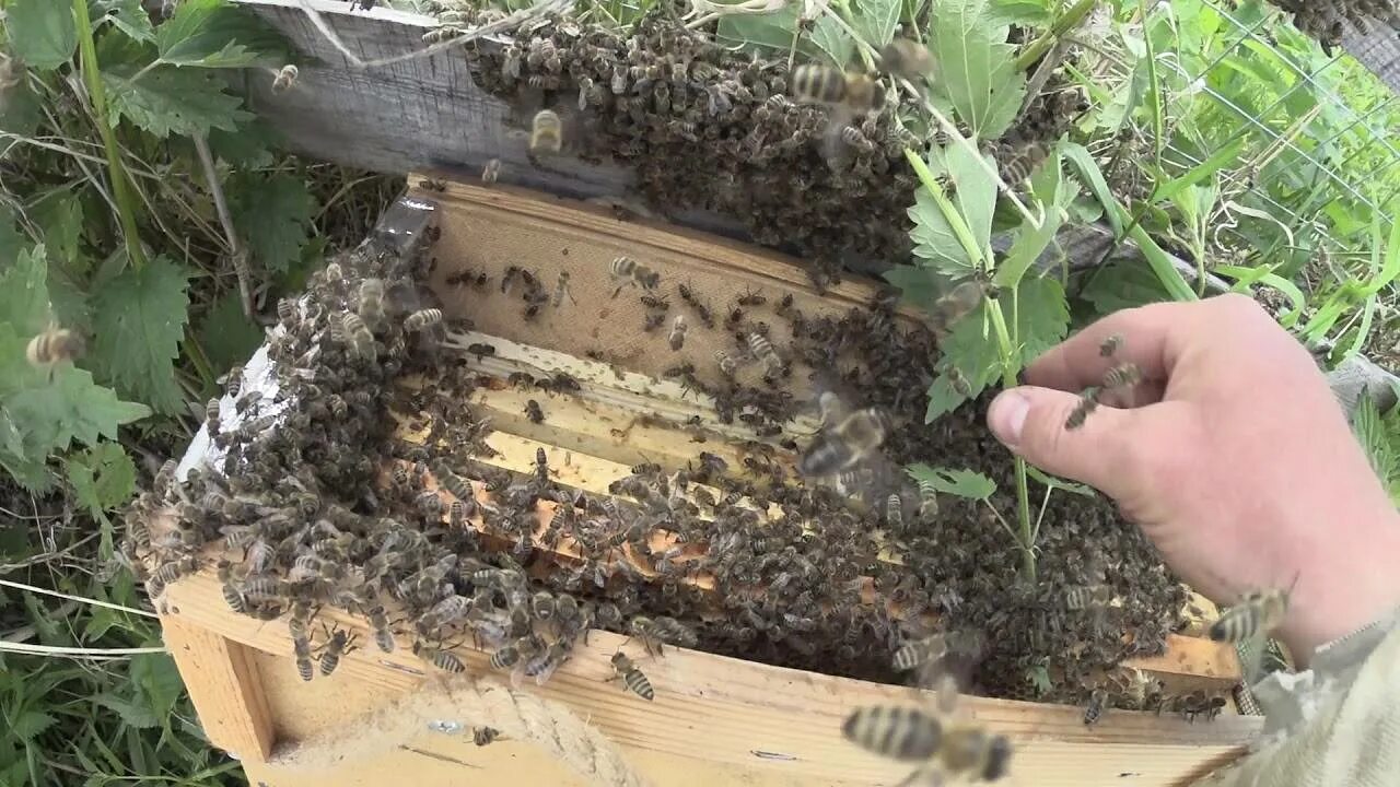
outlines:
[[[956, 697], [956, 686], [941, 683], [941, 703]], [[973, 723], [945, 718], [917, 707], [867, 706], [841, 724], [846, 739], [897, 760], [927, 760], [906, 784], [944, 784], [945, 776], [967, 781], [997, 781], [1007, 774], [1011, 741]]]

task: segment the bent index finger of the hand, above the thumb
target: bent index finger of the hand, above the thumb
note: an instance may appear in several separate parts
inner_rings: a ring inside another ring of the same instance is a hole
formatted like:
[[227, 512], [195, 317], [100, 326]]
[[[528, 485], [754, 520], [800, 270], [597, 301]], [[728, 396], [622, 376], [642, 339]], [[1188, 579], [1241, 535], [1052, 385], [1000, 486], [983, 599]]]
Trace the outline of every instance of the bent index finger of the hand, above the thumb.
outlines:
[[[1145, 379], [1163, 381], [1176, 361], [1173, 347], [1193, 321], [1198, 304], [1148, 304], [1123, 309], [1050, 347], [1026, 367], [1026, 381], [1060, 391], [1082, 391], [1102, 385], [1103, 374], [1123, 363], [1134, 363]], [[1112, 354], [1105, 343], [1117, 337]]]

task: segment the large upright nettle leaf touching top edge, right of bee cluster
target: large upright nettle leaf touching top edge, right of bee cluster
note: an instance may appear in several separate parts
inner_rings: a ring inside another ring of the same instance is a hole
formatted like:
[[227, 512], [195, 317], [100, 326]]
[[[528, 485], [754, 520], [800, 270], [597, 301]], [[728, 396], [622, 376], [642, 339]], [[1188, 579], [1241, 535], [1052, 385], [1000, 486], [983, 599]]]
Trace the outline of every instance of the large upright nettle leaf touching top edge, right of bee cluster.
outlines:
[[995, 139], [1015, 120], [1026, 92], [1016, 71], [1008, 27], [993, 18], [987, 0], [937, 0], [930, 50], [939, 90], [977, 139]]

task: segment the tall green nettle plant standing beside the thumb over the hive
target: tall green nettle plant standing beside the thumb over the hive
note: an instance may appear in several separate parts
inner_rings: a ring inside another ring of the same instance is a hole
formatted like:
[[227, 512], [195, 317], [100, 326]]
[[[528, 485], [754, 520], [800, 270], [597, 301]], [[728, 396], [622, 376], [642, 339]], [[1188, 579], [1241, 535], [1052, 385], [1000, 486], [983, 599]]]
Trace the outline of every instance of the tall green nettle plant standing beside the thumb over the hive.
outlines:
[[[928, 46], [939, 70], [927, 85], [927, 108], [949, 141], [932, 147], [927, 158], [907, 153], [921, 181], [909, 210], [914, 265], [886, 274], [906, 300], [946, 328], [938, 377], [928, 389], [930, 423], [991, 385], [1015, 385], [1026, 363], [1064, 339], [1070, 328], [1064, 284], [1054, 269], [1036, 263], [1079, 193], [1063, 174], [1065, 143], [1039, 147], [1036, 155], [1000, 168], [981, 150], [1011, 127], [1026, 94], [1026, 74], [1016, 67], [1015, 46], [1007, 42], [1008, 24], [986, 4], [945, 1], [935, 4], [931, 29]], [[958, 126], [969, 133], [963, 136]], [[1004, 252], [993, 244], [998, 203], [1000, 214], [1011, 216], [1009, 225], [997, 232], [1009, 242], [998, 244]], [[990, 503], [997, 489], [991, 479], [928, 465], [914, 465], [909, 473], [921, 486], [988, 506], [1019, 546], [1028, 580], [1036, 574], [1039, 529], [1039, 521], [1032, 520], [1028, 476], [1047, 487], [1078, 490], [1016, 459], [1012, 527]]]

